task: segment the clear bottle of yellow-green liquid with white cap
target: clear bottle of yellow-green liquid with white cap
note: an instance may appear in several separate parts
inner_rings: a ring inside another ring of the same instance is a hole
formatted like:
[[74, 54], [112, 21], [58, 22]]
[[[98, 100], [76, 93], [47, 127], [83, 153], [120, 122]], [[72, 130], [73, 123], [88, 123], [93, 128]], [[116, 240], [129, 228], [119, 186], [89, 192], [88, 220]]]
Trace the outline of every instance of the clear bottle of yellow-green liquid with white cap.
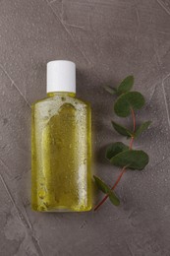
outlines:
[[91, 209], [91, 110], [76, 97], [76, 67], [47, 65], [47, 97], [32, 104], [31, 208]]

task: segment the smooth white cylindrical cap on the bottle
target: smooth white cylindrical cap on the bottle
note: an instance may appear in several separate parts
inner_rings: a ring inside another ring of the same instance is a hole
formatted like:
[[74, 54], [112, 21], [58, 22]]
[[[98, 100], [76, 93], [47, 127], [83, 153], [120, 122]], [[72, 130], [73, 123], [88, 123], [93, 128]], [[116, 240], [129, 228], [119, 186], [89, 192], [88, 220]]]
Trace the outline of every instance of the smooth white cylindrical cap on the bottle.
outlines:
[[47, 63], [47, 93], [76, 93], [76, 64], [69, 60]]

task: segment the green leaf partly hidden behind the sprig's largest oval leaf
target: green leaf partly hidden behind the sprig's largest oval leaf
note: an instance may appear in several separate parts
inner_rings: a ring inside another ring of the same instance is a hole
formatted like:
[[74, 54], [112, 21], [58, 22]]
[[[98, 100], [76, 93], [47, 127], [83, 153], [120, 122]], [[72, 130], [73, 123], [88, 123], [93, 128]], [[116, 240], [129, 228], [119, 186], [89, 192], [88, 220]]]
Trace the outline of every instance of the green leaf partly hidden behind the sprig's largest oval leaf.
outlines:
[[119, 154], [123, 151], [127, 151], [128, 149], [129, 149], [129, 147], [126, 146], [125, 144], [123, 144], [122, 142], [112, 143], [111, 145], [109, 145], [107, 147], [106, 159], [111, 160], [117, 154]]

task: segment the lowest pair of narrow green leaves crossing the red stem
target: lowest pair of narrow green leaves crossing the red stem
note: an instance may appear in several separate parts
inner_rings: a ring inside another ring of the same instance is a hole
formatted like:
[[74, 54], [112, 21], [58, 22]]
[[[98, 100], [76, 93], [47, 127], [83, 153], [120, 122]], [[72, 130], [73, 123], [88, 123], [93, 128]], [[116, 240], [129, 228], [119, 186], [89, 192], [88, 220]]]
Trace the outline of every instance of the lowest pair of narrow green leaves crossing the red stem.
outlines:
[[109, 199], [111, 203], [115, 206], [120, 205], [119, 198], [116, 196], [116, 194], [97, 176], [93, 175], [93, 178], [95, 180], [95, 183], [97, 185], [97, 188], [101, 190], [104, 194], [107, 194], [109, 196]]

